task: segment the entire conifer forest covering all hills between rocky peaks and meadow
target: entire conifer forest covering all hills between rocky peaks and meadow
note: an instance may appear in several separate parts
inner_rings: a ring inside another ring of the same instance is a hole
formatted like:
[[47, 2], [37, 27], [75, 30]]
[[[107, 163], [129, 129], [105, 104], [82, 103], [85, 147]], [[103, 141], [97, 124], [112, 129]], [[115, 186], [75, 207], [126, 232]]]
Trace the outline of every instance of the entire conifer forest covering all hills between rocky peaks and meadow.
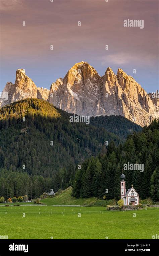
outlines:
[[73, 186], [77, 198], [102, 198], [108, 189], [107, 199], [118, 199], [123, 164], [131, 162], [144, 163], [144, 172], [126, 171], [126, 188], [133, 183], [142, 199], [158, 200], [159, 122], [142, 130], [122, 116], [86, 125], [70, 115], [38, 99], [0, 109], [0, 196], [37, 198]]

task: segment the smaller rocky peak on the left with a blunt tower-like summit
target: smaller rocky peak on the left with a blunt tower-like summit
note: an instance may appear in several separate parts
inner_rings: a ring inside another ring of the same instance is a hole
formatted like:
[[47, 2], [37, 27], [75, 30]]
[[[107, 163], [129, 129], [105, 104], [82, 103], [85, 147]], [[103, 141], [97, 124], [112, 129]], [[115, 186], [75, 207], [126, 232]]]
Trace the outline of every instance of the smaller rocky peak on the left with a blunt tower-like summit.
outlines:
[[36, 87], [32, 79], [25, 74], [25, 69], [18, 69], [16, 71], [15, 83], [7, 82], [2, 93], [8, 93], [8, 99], [0, 100], [0, 105], [5, 106], [15, 101], [37, 98], [37, 99], [48, 99], [49, 90], [43, 87]]

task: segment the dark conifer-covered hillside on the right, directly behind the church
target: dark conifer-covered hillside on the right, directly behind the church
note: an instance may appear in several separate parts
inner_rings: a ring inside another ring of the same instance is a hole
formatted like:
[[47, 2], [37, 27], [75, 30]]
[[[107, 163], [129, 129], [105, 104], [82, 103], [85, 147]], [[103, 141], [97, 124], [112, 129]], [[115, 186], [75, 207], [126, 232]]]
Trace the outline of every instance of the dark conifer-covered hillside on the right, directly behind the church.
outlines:
[[[154, 120], [142, 132], [129, 135], [123, 145], [112, 141], [106, 154], [99, 154], [83, 162], [76, 170], [72, 196], [120, 198], [120, 175], [124, 163], [142, 163], [144, 171], [125, 170], [126, 191], [134, 188], [140, 199], [151, 197], [159, 201], [159, 121]], [[105, 190], [108, 189], [108, 193]]]

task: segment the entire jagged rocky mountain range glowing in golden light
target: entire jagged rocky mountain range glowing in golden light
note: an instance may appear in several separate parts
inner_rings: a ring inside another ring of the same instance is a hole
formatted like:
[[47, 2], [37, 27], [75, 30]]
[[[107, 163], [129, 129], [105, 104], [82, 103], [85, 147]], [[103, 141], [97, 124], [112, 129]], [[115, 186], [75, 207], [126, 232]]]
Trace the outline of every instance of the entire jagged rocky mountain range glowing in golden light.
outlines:
[[64, 79], [51, 84], [50, 91], [36, 87], [25, 70], [18, 69], [15, 84], [8, 82], [5, 92], [8, 92], [8, 99], [1, 99], [1, 106], [32, 97], [45, 99], [68, 113], [121, 115], [140, 126], [149, 125], [159, 117], [159, 100], [153, 99], [133, 77], [122, 69], [115, 75], [111, 68], [99, 76], [87, 62], [76, 63]]

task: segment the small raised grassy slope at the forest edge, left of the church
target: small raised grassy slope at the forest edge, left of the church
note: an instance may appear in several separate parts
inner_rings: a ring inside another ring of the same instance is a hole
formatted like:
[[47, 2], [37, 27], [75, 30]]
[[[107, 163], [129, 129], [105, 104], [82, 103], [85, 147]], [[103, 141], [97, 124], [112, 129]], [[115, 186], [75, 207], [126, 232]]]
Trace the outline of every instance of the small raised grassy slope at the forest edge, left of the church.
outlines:
[[71, 197], [71, 187], [69, 187], [62, 191], [59, 195], [53, 198], [45, 198], [41, 200], [41, 202], [47, 205], [88, 205], [95, 200], [96, 198], [94, 197], [79, 199]]

